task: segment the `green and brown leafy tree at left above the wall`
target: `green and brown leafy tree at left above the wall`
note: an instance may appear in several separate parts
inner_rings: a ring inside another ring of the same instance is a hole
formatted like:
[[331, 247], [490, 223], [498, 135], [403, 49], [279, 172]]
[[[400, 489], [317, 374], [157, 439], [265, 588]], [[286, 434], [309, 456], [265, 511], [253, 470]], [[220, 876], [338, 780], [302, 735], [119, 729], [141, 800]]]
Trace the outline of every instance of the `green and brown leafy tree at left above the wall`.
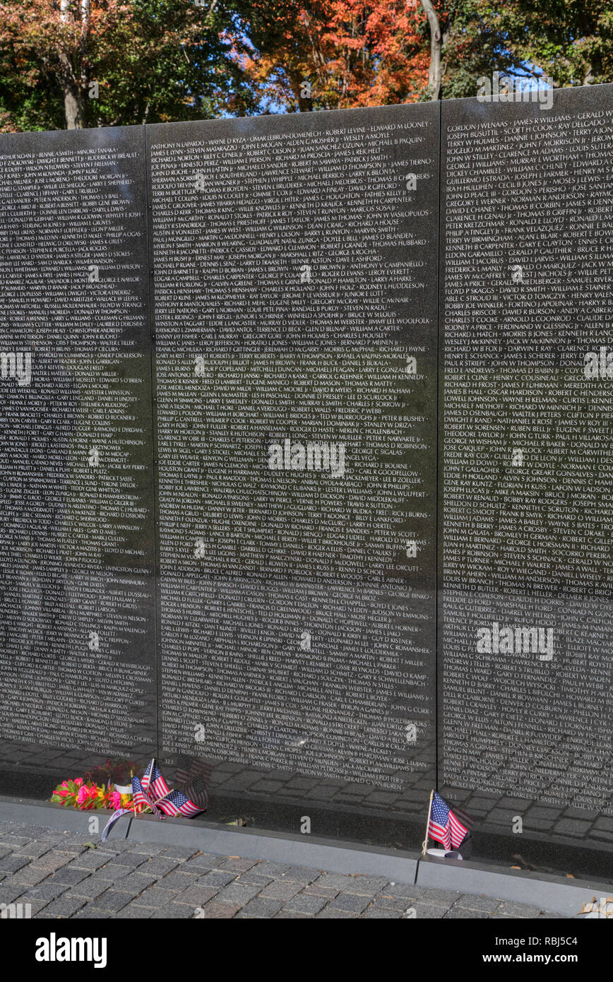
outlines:
[[227, 0], [4, 0], [4, 129], [114, 126], [218, 115], [250, 94], [221, 38]]

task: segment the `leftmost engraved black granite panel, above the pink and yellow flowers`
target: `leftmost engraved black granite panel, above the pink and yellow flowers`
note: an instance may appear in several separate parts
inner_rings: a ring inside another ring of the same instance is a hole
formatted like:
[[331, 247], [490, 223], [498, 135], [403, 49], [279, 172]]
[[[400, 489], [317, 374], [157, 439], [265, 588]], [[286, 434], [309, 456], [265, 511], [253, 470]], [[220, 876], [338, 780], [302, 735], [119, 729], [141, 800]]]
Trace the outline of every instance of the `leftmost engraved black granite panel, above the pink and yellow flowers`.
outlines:
[[0, 770], [49, 793], [155, 743], [143, 155], [0, 136]]

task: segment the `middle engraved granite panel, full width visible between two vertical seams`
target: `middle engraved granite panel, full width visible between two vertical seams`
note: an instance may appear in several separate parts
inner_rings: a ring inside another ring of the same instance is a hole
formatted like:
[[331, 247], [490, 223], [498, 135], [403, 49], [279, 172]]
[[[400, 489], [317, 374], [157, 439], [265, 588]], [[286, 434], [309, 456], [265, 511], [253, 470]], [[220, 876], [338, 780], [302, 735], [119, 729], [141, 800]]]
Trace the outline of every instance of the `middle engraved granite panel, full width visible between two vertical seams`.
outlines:
[[160, 756], [206, 757], [224, 795], [293, 806], [295, 832], [319, 805], [415, 816], [435, 761], [437, 107], [152, 126], [147, 153]]

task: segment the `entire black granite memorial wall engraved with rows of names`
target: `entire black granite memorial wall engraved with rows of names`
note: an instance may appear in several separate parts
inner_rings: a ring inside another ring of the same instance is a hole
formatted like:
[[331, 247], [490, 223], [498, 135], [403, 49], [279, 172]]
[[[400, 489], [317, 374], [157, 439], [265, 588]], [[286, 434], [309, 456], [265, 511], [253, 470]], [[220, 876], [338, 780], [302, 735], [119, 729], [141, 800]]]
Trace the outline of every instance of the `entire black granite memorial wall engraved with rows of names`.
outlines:
[[611, 854], [612, 91], [0, 136], [0, 791]]

